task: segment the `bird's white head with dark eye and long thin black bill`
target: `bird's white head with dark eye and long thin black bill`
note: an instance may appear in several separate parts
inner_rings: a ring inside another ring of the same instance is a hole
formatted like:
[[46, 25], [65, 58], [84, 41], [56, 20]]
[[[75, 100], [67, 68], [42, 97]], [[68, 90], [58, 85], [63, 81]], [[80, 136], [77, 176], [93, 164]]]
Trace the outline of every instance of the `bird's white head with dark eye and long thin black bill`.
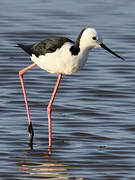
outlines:
[[117, 56], [118, 58], [125, 60], [123, 57], [119, 56], [112, 50], [110, 50], [107, 46], [103, 44], [102, 36], [94, 29], [94, 28], [86, 28], [82, 30], [79, 36], [80, 40], [80, 48], [84, 49], [92, 49], [92, 48], [104, 48], [111, 54]]

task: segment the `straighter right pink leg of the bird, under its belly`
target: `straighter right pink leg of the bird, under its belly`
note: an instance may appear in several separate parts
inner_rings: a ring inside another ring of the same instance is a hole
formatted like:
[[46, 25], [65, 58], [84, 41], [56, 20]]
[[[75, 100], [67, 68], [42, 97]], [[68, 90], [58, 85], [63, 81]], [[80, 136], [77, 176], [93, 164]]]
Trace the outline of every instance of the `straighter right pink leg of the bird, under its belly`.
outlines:
[[57, 93], [57, 90], [58, 90], [58, 87], [59, 87], [61, 78], [62, 78], [62, 74], [59, 74], [58, 79], [57, 79], [57, 82], [56, 82], [56, 86], [55, 86], [54, 91], [53, 91], [53, 93], [52, 93], [52, 97], [51, 97], [50, 102], [49, 102], [49, 104], [48, 104], [48, 106], [47, 106], [47, 113], [48, 113], [48, 131], [49, 131], [49, 149], [50, 149], [51, 146], [52, 146], [52, 126], [51, 126], [52, 104], [53, 104], [54, 98], [55, 98], [55, 96], [56, 96], [56, 93]]

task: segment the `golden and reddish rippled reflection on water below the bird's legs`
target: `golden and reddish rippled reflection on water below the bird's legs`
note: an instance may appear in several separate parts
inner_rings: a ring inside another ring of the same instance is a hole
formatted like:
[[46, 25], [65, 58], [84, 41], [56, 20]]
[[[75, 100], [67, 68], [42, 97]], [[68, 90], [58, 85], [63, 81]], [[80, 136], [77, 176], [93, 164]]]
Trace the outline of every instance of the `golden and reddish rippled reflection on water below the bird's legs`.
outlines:
[[39, 150], [25, 150], [24, 157], [19, 159], [19, 171], [24, 176], [32, 176], [33, 178], [49, 178], [55, 179], [69, 179], [69, 167], [64, 163], [60, 163], [52, 156], [52, 152], [47, 153]]

